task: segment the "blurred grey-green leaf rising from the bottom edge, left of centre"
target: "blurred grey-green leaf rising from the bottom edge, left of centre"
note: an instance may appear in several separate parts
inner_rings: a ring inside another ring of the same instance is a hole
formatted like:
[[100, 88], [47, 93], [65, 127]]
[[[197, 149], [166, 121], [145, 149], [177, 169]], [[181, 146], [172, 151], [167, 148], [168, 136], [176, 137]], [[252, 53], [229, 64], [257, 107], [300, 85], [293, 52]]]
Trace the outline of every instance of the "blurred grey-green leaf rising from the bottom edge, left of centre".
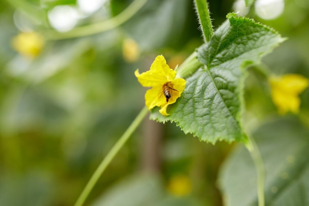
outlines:
[[92, 206], [185, 206], [201, 205], [196, 199], [169, 194], [157, 174], [142, 173], [116, 183]]

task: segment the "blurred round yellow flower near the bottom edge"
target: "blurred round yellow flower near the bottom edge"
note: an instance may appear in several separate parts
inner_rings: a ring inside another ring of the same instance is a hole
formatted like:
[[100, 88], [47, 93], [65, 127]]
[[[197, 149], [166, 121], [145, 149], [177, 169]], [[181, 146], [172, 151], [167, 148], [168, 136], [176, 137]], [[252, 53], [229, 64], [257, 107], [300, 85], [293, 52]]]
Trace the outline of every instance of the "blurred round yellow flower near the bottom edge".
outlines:
[[185, 175], [175, 175], [168, 182], [167, 190], [177, 197], [189, 195], [192, 190], [191, 180]]

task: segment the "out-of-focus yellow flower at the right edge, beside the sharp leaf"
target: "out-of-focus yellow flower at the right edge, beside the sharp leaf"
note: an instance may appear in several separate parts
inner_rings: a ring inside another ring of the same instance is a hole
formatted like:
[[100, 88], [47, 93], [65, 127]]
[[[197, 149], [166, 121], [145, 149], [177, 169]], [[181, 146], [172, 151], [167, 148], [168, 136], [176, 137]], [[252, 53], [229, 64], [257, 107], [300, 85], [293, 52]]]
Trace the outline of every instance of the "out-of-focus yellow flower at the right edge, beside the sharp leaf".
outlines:
[[307, 78], [298, 74], [286, 74], [280, 77], [270, 77], [271, 96], [278, 112], [282, 115], [291, 111], [298, 113], [300, 106], [299, 94], [308, 86]]

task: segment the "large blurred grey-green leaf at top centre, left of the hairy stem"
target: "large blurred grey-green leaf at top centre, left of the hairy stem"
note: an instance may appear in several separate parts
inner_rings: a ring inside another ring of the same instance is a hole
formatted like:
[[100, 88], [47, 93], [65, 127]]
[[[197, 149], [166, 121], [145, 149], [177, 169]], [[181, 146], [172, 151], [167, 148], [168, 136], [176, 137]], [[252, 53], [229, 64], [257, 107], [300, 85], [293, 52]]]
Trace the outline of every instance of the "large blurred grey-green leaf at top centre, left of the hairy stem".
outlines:
[[142, 51], [149, 52], [162, 46], [177, 46], [175, 43], [181, 40], [181, 34], [186, 32], [184, 28], [187, 24], [188, 8], [192, 6], [187, 0], [148, 1], [122, 27], [128, 36], [137, 41]]

